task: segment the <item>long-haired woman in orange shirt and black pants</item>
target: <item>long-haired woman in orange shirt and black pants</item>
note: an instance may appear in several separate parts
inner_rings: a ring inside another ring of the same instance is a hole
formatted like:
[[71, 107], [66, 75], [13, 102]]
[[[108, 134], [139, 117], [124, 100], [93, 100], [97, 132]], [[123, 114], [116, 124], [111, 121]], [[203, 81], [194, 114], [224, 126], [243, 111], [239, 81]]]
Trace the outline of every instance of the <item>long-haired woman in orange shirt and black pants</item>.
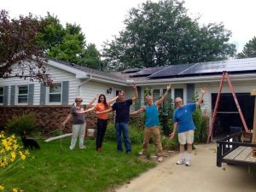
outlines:
[[[108, 108], [110, 108], [110, 104], [115, 102], [119, 96], [113, 97], [112, 100], [108, 101], [106, 100], [106, 96], [101, 94], [98, 99], [98, 103], [90, 109], [85, 110], [83, 113], [87, 113], [93, 110], [96, 111], [104, 111]], [[96, 134], [96, 150], [101, 151], [102, 150], [102, 143], [103, 138], [106, 132], [108, 126], [108, 113], [101, 113], [97, 114], [97, 134]]]

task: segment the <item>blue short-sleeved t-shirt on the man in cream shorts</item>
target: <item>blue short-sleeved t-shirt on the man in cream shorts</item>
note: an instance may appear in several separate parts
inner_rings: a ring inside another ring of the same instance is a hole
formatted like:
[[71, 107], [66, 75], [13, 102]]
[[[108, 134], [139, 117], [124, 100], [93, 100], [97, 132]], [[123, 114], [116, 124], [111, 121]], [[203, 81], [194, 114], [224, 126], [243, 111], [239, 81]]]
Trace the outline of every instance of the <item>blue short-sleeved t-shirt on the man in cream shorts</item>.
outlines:
[[177, 132], [195, 130], [195, 125], [192, 118], [192, 113], [195, 111], [196, 104], [189, 103], [183, 105], [182, 108], [177, 108], [174, 111], [173, 121], [177, 123]]

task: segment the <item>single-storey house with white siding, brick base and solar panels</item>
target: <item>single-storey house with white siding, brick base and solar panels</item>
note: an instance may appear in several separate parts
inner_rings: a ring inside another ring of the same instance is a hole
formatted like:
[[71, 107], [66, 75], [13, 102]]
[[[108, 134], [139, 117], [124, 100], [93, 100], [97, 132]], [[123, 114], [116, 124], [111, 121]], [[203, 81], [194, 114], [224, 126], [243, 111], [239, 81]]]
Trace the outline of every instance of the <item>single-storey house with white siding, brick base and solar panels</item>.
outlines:
[[[75, 96], [82, 96], [84, 103], [88, 103], [96, 94], [102, 93], [107, 99], [111, 99], [119, 90], [125, 90], [125, 97], [131, 98], [132, 82], [137, 83], [139, 91], [139, 102], [133, 108], [140, 108], [142, 105], [143, 91], [146, 88], [153, 90], [155, 100], [163, 95], [166, 85], [171, 83], [172, 92], [168, 101], [172, 102], [175, 97], [181, 96], [183, 102], [188, 103], [193, 102], [195, 93], [199, 94], [201, 87], [205, 86], [207, 94], [201, 109], [211, 117], [224, 71], [230, 73], [247, 126], [253, 126], [254, 102], [250, 90], [256, 86], [256, 58], [127, 69], [119, 73], [102, 72], [53, 59], [49, 59], [46, 65], [54, 79], [54, 88], [24, 79], [1, 79], [0, 126], [13, 114], [28, 110], [40, 113], [38, 117], [44, 119], [43, 123], [54, 128], [67, 116]], [[219, 132], [230, 126], [241, 126], [236, 111], [229, 86], [225, 83], [217, 119]]]

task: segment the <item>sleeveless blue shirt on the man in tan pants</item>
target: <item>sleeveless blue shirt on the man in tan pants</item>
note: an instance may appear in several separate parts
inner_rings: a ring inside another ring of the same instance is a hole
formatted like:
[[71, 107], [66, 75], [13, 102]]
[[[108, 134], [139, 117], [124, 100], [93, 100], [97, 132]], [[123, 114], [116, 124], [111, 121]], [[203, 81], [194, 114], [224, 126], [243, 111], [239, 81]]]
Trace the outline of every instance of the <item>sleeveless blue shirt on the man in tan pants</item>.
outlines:
[[145, 114], [146, 114], [146, 122], [145, 122], [146, 127], [159, 125], [158, 110], [155, 104], [151, 106], [147, 105], [145, 108]]

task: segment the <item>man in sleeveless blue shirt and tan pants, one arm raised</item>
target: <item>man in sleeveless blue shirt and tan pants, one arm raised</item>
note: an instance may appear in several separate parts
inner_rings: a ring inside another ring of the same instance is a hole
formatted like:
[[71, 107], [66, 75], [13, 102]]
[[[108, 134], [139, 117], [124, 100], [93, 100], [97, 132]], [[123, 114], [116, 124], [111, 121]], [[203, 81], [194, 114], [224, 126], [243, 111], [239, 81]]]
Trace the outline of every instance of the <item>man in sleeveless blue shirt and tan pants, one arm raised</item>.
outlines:
[[160, 139], [160, 127], [159, 127], [159, 117], [158, 117], [158, 108], [162, 102], [166, 99], [166, 96], [171, 91], [171, 84], [167, 86], [166, 93], [160, 98], [160, 100], [153, 103], [151, 96], [146, 96], [145, 101], [147, 102], [146, 106], [138, 109], [137, 111], [131, 114], [142, 113], [145, 111], [145, 129], [144, 129], [144, 139], [143, 139], [143, 151], [139, 154], [145, 154], [148, 150], [148, 142], [151, 134], [154, 136], [156, 154], [158, 156], [158, 161], [163, 161], [164, 151]]

